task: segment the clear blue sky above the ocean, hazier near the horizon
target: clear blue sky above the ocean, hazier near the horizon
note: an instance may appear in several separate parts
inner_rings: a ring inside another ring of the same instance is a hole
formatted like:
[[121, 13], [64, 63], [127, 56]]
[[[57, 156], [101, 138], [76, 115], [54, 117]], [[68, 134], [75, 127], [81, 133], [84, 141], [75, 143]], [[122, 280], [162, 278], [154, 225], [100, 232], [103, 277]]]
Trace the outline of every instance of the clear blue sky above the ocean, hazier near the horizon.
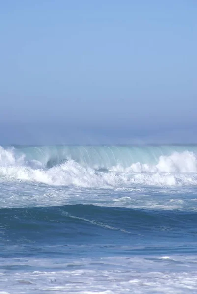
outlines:
[[196, 0], [0, 3], [0, 144], [197, 143]]

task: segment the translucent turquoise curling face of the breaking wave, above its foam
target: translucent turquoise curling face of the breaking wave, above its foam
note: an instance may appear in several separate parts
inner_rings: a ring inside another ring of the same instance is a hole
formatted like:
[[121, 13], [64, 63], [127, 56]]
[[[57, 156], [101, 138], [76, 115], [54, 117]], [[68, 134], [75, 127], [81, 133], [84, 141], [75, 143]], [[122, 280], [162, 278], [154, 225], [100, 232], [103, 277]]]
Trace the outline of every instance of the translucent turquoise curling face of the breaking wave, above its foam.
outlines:
[[[188, 162], [189, 155], [197, 154], [197, 146], [10, 146], [0, 148], [0, 164], [13, 164], [15, 161], [20, 163], [20, 160], [24, 160], [26, 163], [37, 163], [43, 168], [52, 168], [67, 160], [74, 160], [81, 166], [94, 169], [110, 169], [117, 165], [128, 168], [135, 163], [156, 165], [160, 159], [165, 160], [165, 157], [172, 154], [186, 156], [182, 157], [182, 161], [186, 160], [185, 165], [183, 162], [178, 164], [181, 158], [171, 158], [175, 164], [171, 167], [173, 171], [197, 171], [196, 159], [196, 165], [190, 166]], [[171, 168], [166, 167], [164, 171], [171, 172]]]

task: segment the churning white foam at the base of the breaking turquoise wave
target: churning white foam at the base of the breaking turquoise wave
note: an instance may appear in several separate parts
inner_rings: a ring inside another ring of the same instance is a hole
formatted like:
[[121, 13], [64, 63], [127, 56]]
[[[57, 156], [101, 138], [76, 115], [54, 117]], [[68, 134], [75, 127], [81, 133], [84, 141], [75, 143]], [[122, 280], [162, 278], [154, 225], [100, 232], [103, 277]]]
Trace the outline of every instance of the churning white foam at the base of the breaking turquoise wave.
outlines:
[[127, 187], [133, 184], [151, 186], [197, 185], [197, 158], [193, 152], [174, 152], [160, 156], [156, 165], [133, 163], [130, 167], [111, 167], [109, 172], [98, 172], [68, 160], [50, 169], [37, 160], [27, 161], [24, 154], [0, 147], [1, 181], [21, 180], [47, 185], [77, 187]]

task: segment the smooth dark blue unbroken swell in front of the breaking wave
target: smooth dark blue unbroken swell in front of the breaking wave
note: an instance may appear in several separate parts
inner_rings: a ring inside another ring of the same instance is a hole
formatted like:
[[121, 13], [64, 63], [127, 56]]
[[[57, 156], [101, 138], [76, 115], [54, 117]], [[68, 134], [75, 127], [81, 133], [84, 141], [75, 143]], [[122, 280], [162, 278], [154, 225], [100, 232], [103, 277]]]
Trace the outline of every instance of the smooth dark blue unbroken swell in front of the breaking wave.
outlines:
[[[196, 235], [197, 212], [152, 211], [143, 209], [67, 205], [59, 207], [0, 209], [0, 233], [4, 242], [21, 238], [48, 242], [60, 238], [77, 242], [77, 238], [111, 238], [112, 234], [143, 237], [160, 234], [173, 238]], [[53, 232], [53, 238], [51, 234]], [[8, 239], [5, 238], [7, 236]], [[158, 237], [158, 236], [157, 236]], [[128, 237], [131, 238], [131, 237]], [[24, 239], [25, 240], [25, 239]], [[95, 239], [92, 239], [93, 241]]]

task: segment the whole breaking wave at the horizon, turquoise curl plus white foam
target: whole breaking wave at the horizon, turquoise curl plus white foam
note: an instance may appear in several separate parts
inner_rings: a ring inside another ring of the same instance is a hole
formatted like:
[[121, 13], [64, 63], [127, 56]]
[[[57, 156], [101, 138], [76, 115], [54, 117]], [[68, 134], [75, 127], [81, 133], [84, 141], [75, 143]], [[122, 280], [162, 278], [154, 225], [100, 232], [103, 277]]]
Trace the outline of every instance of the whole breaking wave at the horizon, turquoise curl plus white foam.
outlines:
[[0, 177], [82, 187], [196, 185], [197, 147], [0, 147]]

